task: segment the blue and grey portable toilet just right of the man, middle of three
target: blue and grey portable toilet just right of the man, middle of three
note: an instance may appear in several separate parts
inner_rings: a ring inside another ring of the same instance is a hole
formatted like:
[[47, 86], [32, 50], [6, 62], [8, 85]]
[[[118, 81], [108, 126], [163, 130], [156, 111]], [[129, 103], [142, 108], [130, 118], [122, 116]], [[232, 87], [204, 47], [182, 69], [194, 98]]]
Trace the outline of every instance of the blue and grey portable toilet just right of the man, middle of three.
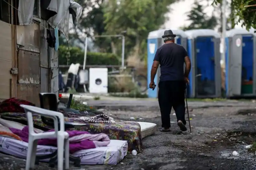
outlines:
[[188, 35], [189, 98], [221, 97], [220, 34], [211, 29], [185, 31]]

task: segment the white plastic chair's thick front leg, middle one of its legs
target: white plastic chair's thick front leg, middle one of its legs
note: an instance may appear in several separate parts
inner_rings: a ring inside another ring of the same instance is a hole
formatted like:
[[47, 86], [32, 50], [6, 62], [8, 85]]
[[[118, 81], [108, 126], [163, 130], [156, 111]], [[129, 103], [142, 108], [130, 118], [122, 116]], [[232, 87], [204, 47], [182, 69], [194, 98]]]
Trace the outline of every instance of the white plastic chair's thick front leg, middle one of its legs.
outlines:
[[58, 147], [58, 169], [63, 170], [63, 158], [64, 158], [64, 134], [58, 133], [57, 147]]

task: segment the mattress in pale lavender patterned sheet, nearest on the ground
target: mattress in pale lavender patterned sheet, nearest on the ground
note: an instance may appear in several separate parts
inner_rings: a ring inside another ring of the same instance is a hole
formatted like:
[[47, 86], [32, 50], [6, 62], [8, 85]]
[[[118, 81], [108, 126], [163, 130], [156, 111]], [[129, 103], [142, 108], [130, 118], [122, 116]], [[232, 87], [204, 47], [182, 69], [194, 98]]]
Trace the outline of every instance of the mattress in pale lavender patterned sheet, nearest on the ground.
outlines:
[[[26, 159], [28, 143], [0, 136], [0, 152]], [[57, 150], [57, 147], [37, 145], [36, 155], [47, 155]], [[127, 141], [110, 140], [108, 146], [77, 151], [72, 156], [81, 158], [81, 165], [116, 165], [127, 154]], [[43, 160], [48, 162], [49, 159]]]

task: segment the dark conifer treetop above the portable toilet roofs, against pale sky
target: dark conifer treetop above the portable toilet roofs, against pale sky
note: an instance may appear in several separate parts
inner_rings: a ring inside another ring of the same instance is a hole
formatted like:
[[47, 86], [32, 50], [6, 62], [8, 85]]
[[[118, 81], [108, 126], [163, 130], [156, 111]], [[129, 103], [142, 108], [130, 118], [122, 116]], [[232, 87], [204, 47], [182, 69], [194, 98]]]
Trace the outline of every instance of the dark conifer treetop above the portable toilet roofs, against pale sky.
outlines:
[[197, 1], [193, 4], [191, 11], [188, 12], [188, 20], [191, 21], [189, 26], [184, 26], [183, 30], [191, 29], [214, 29], [217, 26], [217, 18], [212, 14], [207, 16], [204, 12], [204, 6]]

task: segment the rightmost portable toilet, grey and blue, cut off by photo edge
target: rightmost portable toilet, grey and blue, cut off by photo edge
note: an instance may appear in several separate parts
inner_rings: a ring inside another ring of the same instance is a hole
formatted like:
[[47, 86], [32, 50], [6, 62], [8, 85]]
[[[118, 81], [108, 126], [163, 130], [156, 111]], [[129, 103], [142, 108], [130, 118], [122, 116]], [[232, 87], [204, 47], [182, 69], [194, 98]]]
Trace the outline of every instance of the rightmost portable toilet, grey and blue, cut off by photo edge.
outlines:
[[226, 95], [256, 96], [255, 29], [232, 29], [226, 32]]

